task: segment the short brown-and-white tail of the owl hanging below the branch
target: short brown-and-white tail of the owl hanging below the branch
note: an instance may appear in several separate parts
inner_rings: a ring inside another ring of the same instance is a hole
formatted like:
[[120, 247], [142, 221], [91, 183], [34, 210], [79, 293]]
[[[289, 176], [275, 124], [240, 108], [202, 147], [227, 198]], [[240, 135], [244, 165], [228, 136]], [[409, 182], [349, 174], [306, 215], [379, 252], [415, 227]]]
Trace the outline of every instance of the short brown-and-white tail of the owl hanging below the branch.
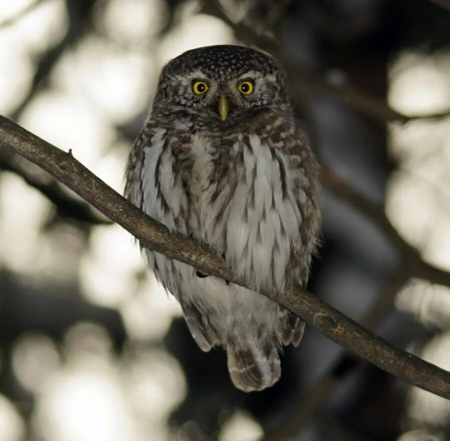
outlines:
[[251, 347], [248, 343], [228, 343], [226, 354], [231, 381], [244, 392], [265, 389], [280, 376], [278, 347], [274, 343], [267, 342], [263, 349]]

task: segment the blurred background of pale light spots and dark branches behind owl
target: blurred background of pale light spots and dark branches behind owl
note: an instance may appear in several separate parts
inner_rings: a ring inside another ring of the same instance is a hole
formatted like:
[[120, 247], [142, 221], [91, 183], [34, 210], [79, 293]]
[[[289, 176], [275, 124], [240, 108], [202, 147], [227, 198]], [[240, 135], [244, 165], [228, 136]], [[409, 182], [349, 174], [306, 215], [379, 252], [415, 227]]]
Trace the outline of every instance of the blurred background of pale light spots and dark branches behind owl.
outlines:
[[[450, 368], [450, 2], [0, 1], [0, 113], [122, 190], [158, 72], [257, 45], [323, 165], [308, 288]], [[233, 388], [130, 235], [0, 144], [0, 441], [444, 441], [450, 402], [308, 327]]]

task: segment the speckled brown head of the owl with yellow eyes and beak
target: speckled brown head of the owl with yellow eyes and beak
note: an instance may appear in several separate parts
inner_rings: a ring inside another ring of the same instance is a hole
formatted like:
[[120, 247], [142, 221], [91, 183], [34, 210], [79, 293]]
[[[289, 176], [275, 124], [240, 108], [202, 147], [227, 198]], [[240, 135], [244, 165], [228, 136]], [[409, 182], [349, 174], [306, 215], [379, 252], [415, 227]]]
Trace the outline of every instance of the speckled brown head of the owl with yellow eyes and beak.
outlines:
[[274, 58], [249, 47], [199, 47], [164, 66], [154, 100], [160, 104], [218, 120], [257, 106], [288, 105], [285, 74]]

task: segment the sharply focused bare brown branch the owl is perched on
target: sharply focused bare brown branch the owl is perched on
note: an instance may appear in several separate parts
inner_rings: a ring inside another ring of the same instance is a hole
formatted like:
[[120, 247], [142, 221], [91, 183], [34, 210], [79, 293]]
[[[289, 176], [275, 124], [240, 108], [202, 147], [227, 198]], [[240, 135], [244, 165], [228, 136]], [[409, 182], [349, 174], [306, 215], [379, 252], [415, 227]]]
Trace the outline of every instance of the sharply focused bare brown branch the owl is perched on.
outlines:
[[[210, 248], [198, 245], [132, 205], [68, 153], [40, 139], [11, 120], [0, 116], [0, 141], [59, 179], [82, 198], [117, 222], [146, 247], [229, 280], [252, 288], [236, 277]], [[450, 398], [450, 372], [405, 352], [319, 300], [298, 286], [276, 294], [261, 294], [278, 302], [317, 328], [331, 340], [381, 369], [445, 398]]]

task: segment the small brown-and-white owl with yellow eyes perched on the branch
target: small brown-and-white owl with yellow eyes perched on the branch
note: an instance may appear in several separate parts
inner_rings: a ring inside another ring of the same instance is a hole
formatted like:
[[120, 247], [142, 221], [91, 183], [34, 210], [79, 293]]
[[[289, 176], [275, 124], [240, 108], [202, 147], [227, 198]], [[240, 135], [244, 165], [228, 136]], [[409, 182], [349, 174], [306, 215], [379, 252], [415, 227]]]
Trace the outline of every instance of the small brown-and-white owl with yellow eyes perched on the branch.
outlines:
[[[125, 173], [132, 203], [209, 244], [256, 289], [306, 285], [320, 220], [318, 166], [274, 58], [216, 45], [168, 62]], [[143, 252], [200, 349], [224, 347], [236, 387], [261, 390], [279, 378], [278, 352], [300, 342], [302, 320], [257, 292]]]

